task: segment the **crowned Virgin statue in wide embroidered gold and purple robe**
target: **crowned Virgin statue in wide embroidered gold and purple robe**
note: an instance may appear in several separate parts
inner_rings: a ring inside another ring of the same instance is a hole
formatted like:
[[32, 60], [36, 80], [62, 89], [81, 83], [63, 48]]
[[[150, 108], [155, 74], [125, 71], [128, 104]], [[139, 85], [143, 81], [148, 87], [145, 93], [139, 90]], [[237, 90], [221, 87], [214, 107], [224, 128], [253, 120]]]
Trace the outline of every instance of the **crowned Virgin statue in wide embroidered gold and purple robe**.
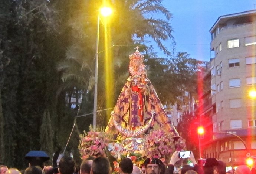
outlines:
[[159, 129], [172, 132], [173, 137], [178, 137], [177, 130], [168, 120], [157, 93], [147, 78], [144, 56], [140, 54], [138, 47], [129, 58], [130, 76], [118, 97], [105, 133], [112, 133], [117, 140], [143, 137], [158, 126]]

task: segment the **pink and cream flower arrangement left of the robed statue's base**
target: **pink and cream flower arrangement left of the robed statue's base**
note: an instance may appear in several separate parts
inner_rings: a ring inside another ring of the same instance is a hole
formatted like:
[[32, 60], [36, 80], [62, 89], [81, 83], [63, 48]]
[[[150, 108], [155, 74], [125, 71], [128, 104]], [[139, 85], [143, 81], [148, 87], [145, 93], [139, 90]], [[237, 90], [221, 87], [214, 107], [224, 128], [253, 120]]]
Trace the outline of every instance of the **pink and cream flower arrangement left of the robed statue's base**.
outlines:
[[107, 148], [109, 139], [111, 137], [104, 133], [104, 128], [93, 129], [89, 127], [89, 132], [84, 132], [80, 135], [80, 141], [78, 149], [82, 159], [86, 159], [90, 156], [105, 156], [107, 155]]

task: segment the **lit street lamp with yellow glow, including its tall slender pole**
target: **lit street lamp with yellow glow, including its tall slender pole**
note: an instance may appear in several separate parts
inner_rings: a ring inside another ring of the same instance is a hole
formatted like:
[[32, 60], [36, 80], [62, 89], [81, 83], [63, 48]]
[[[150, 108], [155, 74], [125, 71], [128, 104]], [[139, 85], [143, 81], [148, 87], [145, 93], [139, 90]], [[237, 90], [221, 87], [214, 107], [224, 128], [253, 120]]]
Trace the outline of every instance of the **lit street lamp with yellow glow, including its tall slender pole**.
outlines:
[[99, 22], [100, 15], [107, 17], [112, 13], [112, 9], [109, 7], [102, 7], [98, 14], [97, 21], [97, 37], [96, 37], [96, 54], [95, 54], [95, 85], [94, 85], [94, 103], [93, 103], [93, 127], [96, 127], [97, 121], [97, 94], [98, 94], [98, 57], [99, 57]]

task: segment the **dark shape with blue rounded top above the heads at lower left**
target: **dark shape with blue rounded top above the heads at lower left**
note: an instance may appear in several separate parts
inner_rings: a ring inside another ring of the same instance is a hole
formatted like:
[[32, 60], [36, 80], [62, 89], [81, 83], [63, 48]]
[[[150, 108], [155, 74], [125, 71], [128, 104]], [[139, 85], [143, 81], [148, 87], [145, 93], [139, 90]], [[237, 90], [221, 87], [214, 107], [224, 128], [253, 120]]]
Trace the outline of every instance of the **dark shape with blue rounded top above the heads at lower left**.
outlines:
[[42, 169], [45, 167], [45, 161], [50, 157], [44, 151], [32, 150], [26, 154], [25, 159], [29, 161], [29, 166], [39, 166]]

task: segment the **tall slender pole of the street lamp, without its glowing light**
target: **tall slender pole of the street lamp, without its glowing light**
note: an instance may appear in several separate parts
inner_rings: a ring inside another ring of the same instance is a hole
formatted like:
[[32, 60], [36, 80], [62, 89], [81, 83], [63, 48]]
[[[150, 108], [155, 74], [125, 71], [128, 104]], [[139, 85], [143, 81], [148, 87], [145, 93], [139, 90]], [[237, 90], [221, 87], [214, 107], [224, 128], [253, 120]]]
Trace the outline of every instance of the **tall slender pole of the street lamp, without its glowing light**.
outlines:
[[99, 14], [97, 23], [96, 54], [95, 54], [95, 84], [94, 84], [94, 104], [93, 104], [93, 127], [97, 122], [97, 94], [98, 94], [98, 58], [99, 58]]

